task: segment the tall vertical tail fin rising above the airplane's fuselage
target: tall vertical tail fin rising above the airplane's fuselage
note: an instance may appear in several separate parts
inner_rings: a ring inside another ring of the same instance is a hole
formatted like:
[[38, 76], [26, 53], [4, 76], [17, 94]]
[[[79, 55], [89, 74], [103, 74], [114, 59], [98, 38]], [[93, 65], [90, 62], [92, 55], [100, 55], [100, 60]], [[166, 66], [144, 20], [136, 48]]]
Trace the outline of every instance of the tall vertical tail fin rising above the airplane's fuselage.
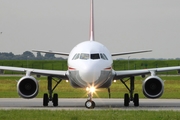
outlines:
[[90, 41], [94, 41], [94, 6], [93, 6], [93, 0], [91, 0]]

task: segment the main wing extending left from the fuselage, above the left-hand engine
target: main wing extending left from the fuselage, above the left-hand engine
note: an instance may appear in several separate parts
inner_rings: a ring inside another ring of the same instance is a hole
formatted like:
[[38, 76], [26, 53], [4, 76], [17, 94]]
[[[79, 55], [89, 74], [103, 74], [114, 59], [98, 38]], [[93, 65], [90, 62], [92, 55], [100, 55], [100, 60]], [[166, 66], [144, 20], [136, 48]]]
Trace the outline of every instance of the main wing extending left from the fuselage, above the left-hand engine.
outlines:
[[26, 74], [29, 74], [29, 75], [36, 74], [36, 75], [53, 76], [53, 77], [58, 77], [58, 78], [62, 78], [62, 79], [68, 79], [67, 71], [30, 69], [30, 68], [10, 67], [10, 66], [0, 66], [0, 70], [26, 72]]

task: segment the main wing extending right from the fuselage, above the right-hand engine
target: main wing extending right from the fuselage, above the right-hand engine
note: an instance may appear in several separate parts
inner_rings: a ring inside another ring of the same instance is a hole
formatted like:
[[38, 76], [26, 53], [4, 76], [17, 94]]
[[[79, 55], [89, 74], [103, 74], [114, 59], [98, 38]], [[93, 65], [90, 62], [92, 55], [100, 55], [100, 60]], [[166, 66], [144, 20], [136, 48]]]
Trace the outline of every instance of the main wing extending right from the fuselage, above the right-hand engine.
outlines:
[[179, 73], [180, 72], [180, 66], [152, 68], [152, 69], [141, 69], [141, 70], [114, 71], [114, 74], [115, 74], [114, 79], [121, 79], [121, 78], [125, 78], [125, 77], [146, 75], [146, 74], [155, 75], [156, 72], [165, 72], [165, 71], [173, 71], [173, 70], [177, 70]]

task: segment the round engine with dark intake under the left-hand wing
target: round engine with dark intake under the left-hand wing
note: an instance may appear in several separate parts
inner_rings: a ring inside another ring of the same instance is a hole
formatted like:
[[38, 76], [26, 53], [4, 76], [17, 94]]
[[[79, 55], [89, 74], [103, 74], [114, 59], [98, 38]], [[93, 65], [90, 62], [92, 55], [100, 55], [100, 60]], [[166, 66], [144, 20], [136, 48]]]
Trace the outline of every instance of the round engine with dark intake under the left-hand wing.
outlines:
[[39, 91], [39, 83], [32, 76], [24, 76], [17, 83], [18, 94], [26, 99], [34, 98]]

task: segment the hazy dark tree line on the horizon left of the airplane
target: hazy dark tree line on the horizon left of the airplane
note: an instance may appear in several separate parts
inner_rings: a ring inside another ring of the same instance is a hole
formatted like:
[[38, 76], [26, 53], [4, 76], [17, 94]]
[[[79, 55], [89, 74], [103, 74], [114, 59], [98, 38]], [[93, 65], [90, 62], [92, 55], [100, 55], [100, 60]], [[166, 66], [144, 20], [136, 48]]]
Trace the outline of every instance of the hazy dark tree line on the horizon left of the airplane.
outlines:
[[42, 55], [40, 52], [36, 53], [35, 56], [30, 51], [25, 51], [23, 54], [15, 55], [12, 52], [1, 52], [0, 53], [0, 60], [65, 60], [63, 57], [56, 57], [52, 53], [45, 53]]

